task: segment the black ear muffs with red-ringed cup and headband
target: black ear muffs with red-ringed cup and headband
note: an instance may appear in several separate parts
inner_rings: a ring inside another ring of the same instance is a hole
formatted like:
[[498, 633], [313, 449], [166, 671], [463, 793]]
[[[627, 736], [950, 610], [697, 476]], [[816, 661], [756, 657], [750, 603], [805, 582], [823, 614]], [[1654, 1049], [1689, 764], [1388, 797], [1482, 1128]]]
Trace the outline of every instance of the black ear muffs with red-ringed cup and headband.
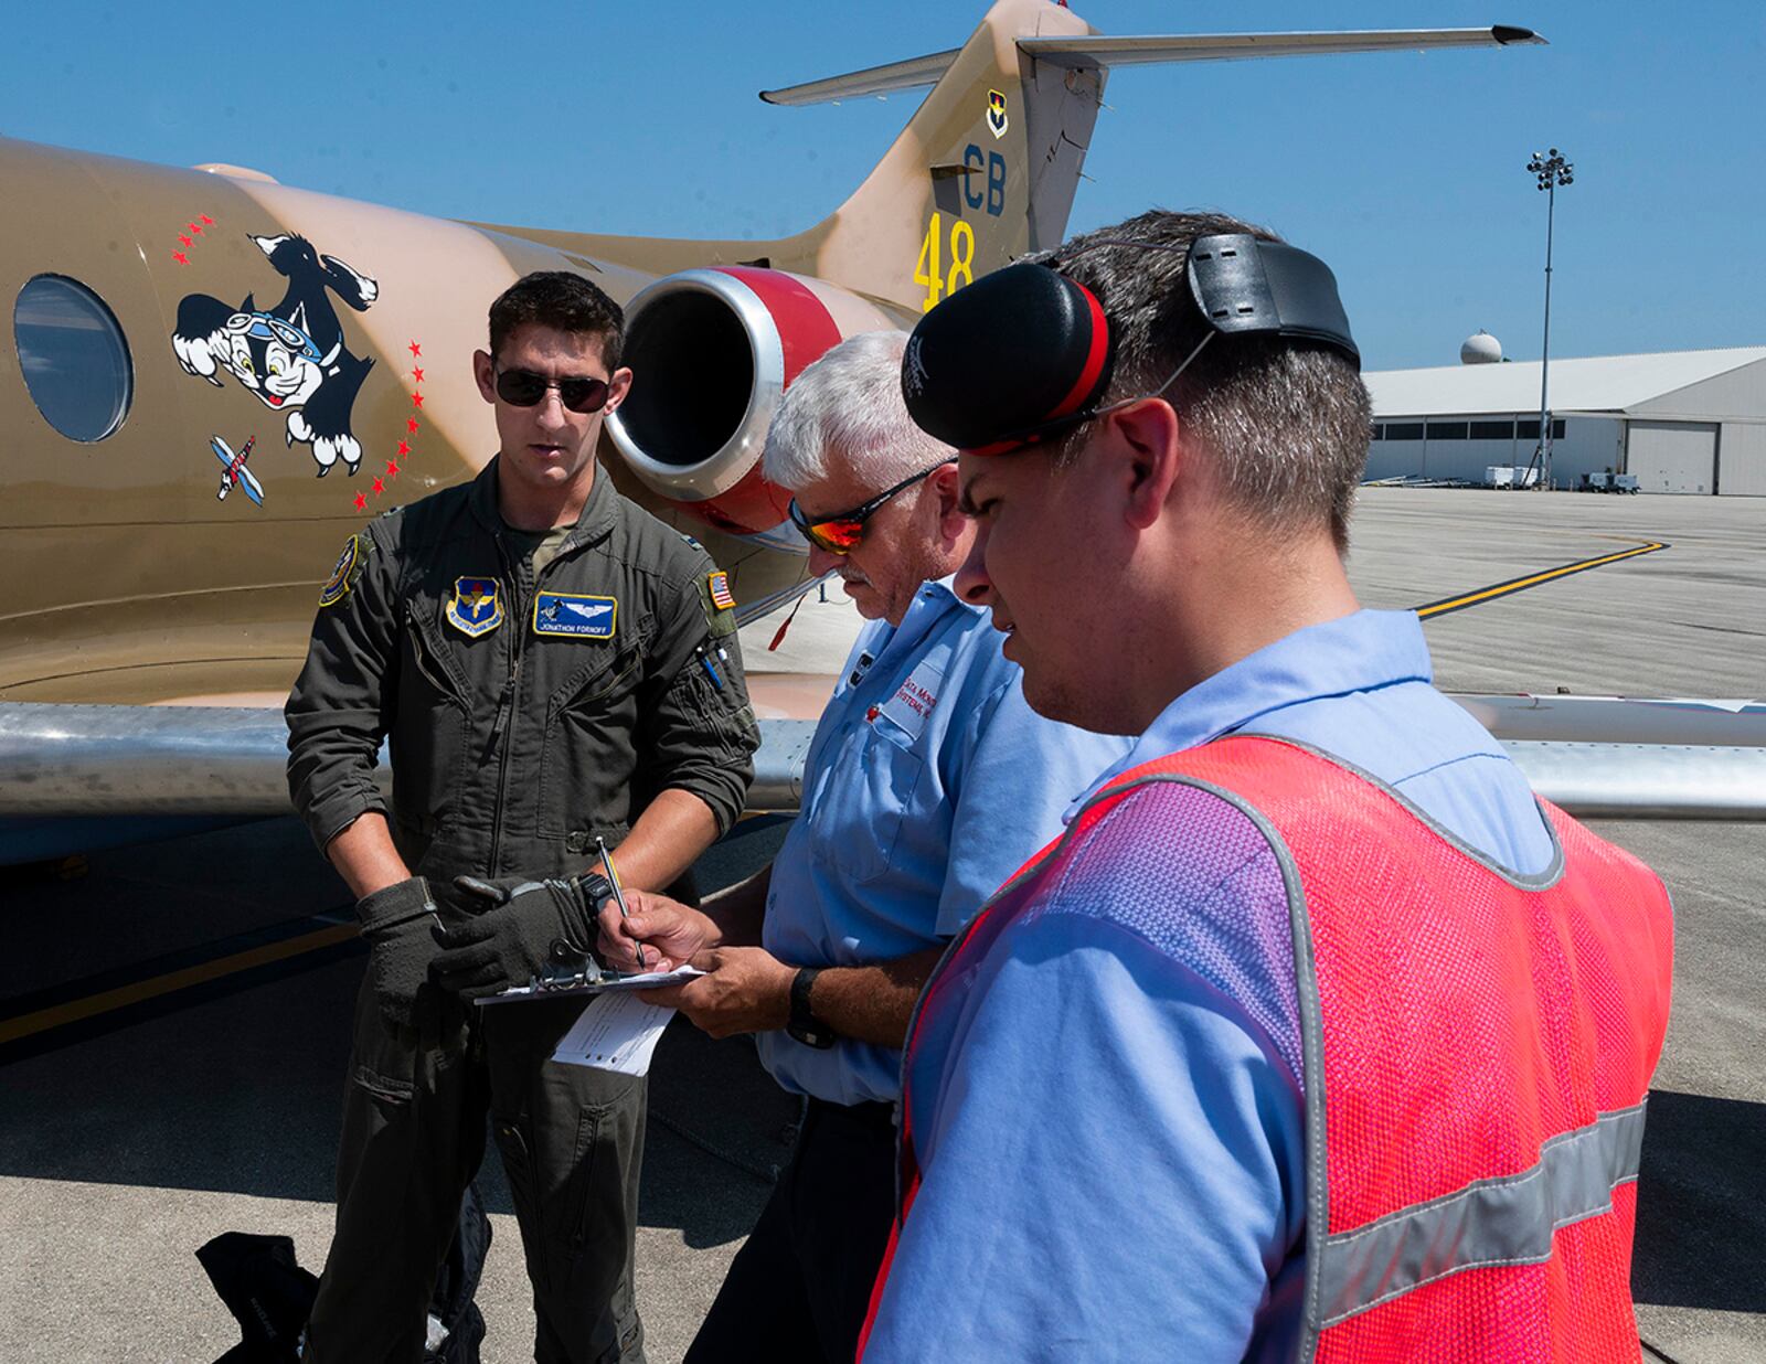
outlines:
[[[1190, 244], [1183, 276], [1215, 345], [1280, 336], [1330, 346], [1360, 369], [1337, 279], [1317, 256], [1219, 233]], [[902, 353], [901, 390], [927, 435], [970, 454], [1001, 454], [1097, 415], [1114, 359], [1109, 322], [1088, 288], [1047, 265], [1008, 265], [920, 318]]]

